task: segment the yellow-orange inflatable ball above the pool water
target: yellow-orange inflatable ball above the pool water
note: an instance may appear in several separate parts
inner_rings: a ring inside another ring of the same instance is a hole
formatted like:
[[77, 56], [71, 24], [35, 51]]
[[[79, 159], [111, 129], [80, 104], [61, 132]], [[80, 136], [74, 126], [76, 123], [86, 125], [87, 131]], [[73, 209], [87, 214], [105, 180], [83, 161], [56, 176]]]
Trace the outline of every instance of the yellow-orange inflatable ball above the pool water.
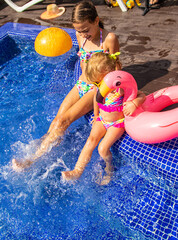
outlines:
[[46, 28], [35, 39], [35, 51], [46, 57], [57, 57], [68, 52], [71, 48], [71, 37], [60, 28]]

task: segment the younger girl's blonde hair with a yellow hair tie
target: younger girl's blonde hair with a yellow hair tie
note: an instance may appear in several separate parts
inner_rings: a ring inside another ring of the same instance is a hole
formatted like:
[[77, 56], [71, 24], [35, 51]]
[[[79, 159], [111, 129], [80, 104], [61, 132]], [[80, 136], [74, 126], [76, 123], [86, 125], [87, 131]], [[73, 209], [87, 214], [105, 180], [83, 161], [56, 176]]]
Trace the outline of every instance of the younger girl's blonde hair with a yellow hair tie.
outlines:
[[89, 59], [85, 74], [89, 82], [100, 82], [106, 74], [115, 71], [117, 65], [120, 65], [119, 56], [113, 58], [109, 53], [98, 52]]

